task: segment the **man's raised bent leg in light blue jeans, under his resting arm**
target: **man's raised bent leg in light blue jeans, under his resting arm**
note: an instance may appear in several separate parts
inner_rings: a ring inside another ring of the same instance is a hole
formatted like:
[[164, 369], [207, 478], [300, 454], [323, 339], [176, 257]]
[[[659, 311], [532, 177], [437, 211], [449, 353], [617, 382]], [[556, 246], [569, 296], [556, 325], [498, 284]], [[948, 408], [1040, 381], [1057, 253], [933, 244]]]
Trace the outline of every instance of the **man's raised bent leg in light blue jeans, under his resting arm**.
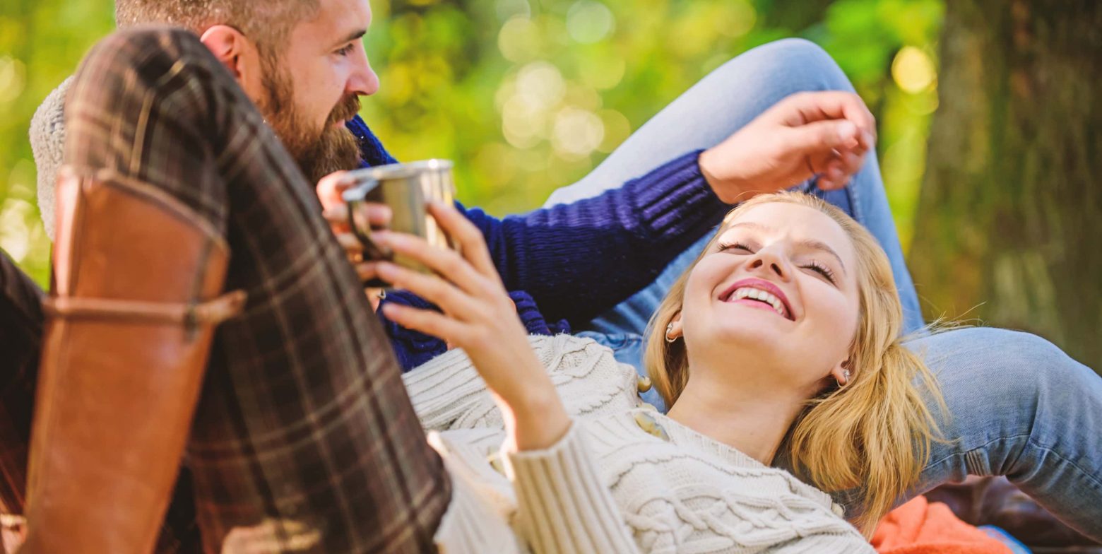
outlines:
[[[548, 205], [592, 197], [647, 173], [656, 161], [710, 148], [731, 135], [780, 99], [803, 90], [853, 90], [845, 74], [822, 48], [800, 39], [758, 46], [712, 72], [628, 138], [579, 183], [555, 191]], [[802, 189], [813, 189], [810, 184]], [[875, 154], [844, 191], [828, 193], [838, 205], [868, 227], [879, 240], [896, 275], [906, 313], [906, 329], [922, 326], [918, 295], [904, 263]], [[598, 333], [642, 335], [669, 285], [689, 267], [706, 238], [685, 250], [653, 284], [587, 327]], [[633, 362], [639, 367], [639, 360]]]

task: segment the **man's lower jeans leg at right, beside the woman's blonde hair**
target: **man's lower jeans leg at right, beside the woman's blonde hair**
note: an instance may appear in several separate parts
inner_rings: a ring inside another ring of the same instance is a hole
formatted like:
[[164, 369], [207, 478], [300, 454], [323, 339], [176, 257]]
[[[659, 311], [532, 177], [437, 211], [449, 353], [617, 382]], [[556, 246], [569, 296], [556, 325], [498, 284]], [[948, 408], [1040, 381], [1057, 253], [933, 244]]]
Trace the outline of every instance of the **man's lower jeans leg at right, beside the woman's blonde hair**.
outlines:
[[937, 373], [948, 444], [915, 493], [1002, 475], [1069, 526], [1102, 540], [1102, 379], [1025, 333], [965, 328], [908, 340]]

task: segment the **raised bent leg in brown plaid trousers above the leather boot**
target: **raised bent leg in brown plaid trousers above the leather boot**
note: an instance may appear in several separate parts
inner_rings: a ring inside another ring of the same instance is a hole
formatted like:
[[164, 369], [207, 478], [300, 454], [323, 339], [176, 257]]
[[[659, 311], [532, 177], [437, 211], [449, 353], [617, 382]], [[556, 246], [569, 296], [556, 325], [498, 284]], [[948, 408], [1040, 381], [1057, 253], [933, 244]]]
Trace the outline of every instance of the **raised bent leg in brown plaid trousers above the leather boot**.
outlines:
[[222, 232], [226, 290], [249, 295], [217, 330], [184, 460], [205, 550], [433, 551], [443, 464], [313, 186], [229, 73], [186, 31], [116, 33], [66, 128], [79, 173], [147, 183]]

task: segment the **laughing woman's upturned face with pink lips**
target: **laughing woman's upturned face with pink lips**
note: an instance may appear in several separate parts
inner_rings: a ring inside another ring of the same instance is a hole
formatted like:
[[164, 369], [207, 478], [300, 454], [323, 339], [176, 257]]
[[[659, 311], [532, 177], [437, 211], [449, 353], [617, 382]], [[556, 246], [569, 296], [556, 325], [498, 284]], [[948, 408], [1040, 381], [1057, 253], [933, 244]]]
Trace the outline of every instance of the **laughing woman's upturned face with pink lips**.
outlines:
[[841, 377], [849, 356], [855, 271], [852, 241], [825, 214], [788, 203], [749, 208], [689, 276], [678, 324], [693, 376], [719, 368], [704, 378], [813, 395], [824, 378]]

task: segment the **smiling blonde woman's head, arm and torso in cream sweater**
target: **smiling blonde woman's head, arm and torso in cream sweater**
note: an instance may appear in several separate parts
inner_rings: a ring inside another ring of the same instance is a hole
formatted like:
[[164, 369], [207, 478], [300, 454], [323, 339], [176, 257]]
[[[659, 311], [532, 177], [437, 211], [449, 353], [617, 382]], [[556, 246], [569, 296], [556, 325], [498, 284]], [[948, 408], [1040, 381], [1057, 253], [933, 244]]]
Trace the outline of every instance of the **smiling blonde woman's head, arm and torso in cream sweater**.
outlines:
[[[901, 308], [875, 239], [810, 196], [733, 210], [655, 315], [635, 371], [570, 336], [526, 337], [477, 229], [434, 215], [463, 258], [414, 237], [396, 251], [447, 276], [380, 275], [443, 313], [386, 306], [462, 348], [404, 376], [454, 489], [450, 552], [865, 552], [938, 437], [899, 345]], [[813, 485], [770, 467], [778, 456]], [[851, 525], [824, 491], [862, 490]], [[860, 531], [858, 531], [860, 529]]]

